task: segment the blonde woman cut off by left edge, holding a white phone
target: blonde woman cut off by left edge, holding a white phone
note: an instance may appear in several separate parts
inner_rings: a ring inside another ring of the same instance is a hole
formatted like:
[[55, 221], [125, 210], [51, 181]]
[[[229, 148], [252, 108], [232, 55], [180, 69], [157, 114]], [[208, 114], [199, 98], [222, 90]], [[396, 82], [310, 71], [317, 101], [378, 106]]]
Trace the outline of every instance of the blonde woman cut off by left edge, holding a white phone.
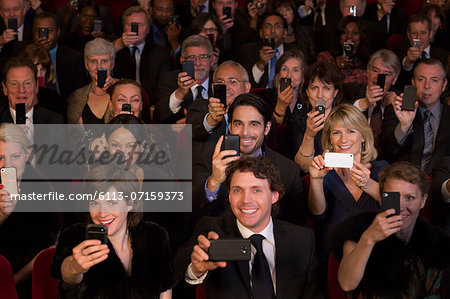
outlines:
[[[16, 169], [19, 194], [48, 194], [53, 188], [45, 175], [27, 162], [29, 155], [30, 142], [22, 128], [15, 124], [1, 124], [0, 168]], [[32, 201], [11, 201], [5, 187], [6, 182], [2, 184], [0, 254], [11, 263], [19, 298], [31, 298], [31, 271], [34, 260], [40, 251], [54, 246], [61, 229], [62, 217], [60, 213], [48, 210], [32, 212], [32, 207], [36, 207], [36, 203]], [[38, 207], [42, 209], [41, 206]]]

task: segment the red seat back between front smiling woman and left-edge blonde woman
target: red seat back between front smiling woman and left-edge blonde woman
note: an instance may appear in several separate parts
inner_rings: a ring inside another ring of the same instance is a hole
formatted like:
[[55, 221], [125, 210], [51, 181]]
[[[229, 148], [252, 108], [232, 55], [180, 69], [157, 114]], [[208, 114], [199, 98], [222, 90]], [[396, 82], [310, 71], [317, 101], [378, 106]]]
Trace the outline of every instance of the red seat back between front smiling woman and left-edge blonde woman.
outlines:
[[38, 254], [32, 272], [32, 298], [56, 299], [58, 297], [58, 280], [50, 274], [53, 255], [56, 248], [47, 248]]

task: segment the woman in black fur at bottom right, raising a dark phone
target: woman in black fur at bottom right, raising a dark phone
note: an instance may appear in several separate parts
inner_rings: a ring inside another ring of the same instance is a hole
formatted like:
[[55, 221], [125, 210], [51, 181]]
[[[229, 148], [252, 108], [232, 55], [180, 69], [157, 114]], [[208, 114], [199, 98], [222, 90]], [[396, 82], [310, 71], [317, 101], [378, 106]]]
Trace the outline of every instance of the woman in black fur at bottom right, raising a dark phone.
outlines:
[[397, 162], [379, 179], [380, 192], [398, 192], [399, 210], [354, 215], [334, 228], [331, 248], [342, 258], [341, 287], [352, 298], [440, 298], [450, 237], [419, 217], [428, 198], [428, 176]]

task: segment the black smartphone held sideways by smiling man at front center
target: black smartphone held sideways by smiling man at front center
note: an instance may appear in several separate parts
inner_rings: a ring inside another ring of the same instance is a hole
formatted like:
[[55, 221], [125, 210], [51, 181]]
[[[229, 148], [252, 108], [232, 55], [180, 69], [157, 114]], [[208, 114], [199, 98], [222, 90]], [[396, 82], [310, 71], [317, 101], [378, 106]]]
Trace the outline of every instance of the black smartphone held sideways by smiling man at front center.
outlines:
[[243, 262], [250, 260], [251, 246], [248, 239], [218, 239], [209, 240], [208, 249], [210, 261]]

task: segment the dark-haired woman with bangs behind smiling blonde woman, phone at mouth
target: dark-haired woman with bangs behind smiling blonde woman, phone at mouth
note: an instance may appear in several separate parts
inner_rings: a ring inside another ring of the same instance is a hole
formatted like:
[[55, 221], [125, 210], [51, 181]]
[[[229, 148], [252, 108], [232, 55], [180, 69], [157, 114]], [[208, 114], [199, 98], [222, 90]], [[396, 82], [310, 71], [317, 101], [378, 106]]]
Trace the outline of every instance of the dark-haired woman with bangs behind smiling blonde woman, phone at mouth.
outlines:
[[[338, 69], [329, 63], [316, 62], [305, 73], [303, 101], [294, 118], [288, 122], [288, 136], [292, 156], [302, 171], [309, 172], [309, 165], [316, 153], [322, 153], [322, 132], [331, 109], [342, 99], [342, 87]], [[318, 100], [324, 100], [325, 113], [316, 110]]]

